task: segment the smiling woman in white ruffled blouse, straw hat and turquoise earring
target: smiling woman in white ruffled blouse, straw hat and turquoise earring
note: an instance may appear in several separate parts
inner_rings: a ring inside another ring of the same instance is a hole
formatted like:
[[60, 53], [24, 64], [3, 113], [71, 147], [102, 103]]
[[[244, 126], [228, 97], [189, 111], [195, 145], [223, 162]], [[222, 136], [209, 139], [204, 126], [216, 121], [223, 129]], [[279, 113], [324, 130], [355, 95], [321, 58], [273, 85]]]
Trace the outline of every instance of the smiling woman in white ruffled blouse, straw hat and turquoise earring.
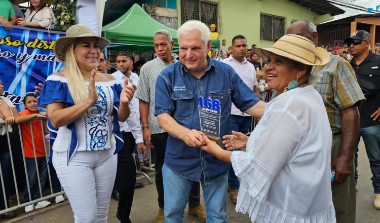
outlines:
[[332, 223], [335, 211], [330, 182], [332, 134], [319, 93], [308, 83], [312, 65], [329, 61], [327, 51], [299, 35], [284, 35], [268, 57], [268, 85], [278, 96], [269, 102], [248, 138], [223, 137], [222, 150], [203, 136], [206, 152], [231, 162], [241, 178], [236, 211], [252, 222]]

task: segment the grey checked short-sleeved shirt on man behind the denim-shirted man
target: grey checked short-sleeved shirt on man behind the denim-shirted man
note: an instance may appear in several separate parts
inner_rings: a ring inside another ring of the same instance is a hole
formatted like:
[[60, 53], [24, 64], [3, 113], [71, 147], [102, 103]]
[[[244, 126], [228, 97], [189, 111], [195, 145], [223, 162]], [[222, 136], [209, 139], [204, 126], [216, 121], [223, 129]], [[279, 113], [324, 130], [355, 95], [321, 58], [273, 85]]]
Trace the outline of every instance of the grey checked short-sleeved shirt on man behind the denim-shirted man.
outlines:
[[[173, 58], [173, 63], [175, 59]], [[135, 97], [149, 103], [148, 125], [151, 134], [159, 134], [165, 132], [160, 128], [157, 117], [155, 116], [155, 93], [156, 93], [156, 80], [163, 71], [170, 64], [157, 57], [142, 65], [140, 69], [140, 79], [138, 81]]]

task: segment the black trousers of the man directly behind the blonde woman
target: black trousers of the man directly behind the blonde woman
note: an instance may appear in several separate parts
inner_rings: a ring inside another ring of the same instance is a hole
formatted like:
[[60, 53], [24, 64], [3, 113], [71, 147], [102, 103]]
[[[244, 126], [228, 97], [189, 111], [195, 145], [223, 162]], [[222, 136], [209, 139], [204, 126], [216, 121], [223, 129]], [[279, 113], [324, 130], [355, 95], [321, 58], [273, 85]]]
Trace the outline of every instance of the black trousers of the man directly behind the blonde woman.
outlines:
[[122, 134], [124, 147], [118, 153], [115, 189], [119, 191], [118, 213], [121, 222], [129, 223], [136, 182], [136, 166], [132, 156], [136, 143], [131, 132], [122, 132]]

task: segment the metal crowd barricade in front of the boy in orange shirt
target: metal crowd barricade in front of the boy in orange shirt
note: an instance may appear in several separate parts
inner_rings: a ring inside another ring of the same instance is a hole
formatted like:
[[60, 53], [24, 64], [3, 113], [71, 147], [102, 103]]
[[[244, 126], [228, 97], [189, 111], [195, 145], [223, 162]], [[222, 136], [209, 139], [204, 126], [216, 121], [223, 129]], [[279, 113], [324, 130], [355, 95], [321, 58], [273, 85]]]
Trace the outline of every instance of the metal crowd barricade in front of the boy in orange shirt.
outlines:
[[[35, 118], [32, 121], [36, 121], [36, 120], [40, 120], [40, 123], [41, 123], [42, 135], [43, 135], [43, 140], [44, 140], [44, 152], [45, 152], [45, 155], [46, 155], [47, 145], [46, 145], [46, 142], [45, 142], [45, 137], [44, 137], [45, 133], [44, 133], [44, 125], [43, 125], [43, 121], [46, 120], [46, 118]], [[5, 125], [5, 122], [4, 121], [0, 121], [0, 127], [2, 127], [4, 125]], [[5, 203], [5, 207], [6, 207], [6, 209], [0, 210], [0, 214], [7, 213], [9, 211], [14, 211], [14, 210], [16, 210], [18, 208], [22, 208], [22, 207], [28, 206], [30, 204], [35, 204], [35, 203], [40, 202], [40, 201], [44, 201], [44, 200], [47, 200], [47, 199], [50, 199], [50, 198], [54, 198], [54, 197], [59, 196], [59, 195], [63, 195], [65, 192], [62, 190], [62, 188], [61, 188], [60, 192], [57, 192], [57, 193], [53, 192], [53, 184], [52, 184], [52, 178], [51, 178], [51, 173], [50, 173], [50, 165], [47, 165], [48, 179], [49, 179], [49, 185], [50, 185], [50, 195], [47, 195], [47, 196], [43, 195], [44, 194], [44, 188], [41, 187], [41, 181], [40, 181], [41, 176], [40, 176], [40, 171], [39, 171], [39, 167], [38, 167], [38, 164], [37, 164], [37, 158], [36, 158], [36, 152], [35, 152], [35, 144], [34, 144], [34, 136], [33, 136], [33, 128], [32, 128], [31, 121], [30, 121], [29, 122], [29, 128], [30, 128], [32, 146], [33, 146], [34, 163], [35, 163], [35, 166], [36, 166], [35, 169], [36, 169], [36, 172], [37, 172], [37, 180], [38, 180], [39, 190], [40, 190], [40, 193], [41, 193], [41, 198], [35, 199], [35, 200], [31, 199], [30, 184], [29, 184], [28, 172], [27, 172], [25, 155], [24, 155], [24, 144], [23, 144], [23, 140], [22, 140], [21, 127], [20, 127], [20, 125], [18, 125], [19, 135], [20, 135], [20, 143], [21, 143], [21, 152], [22, 152], [23, 165], [24, 165], [24, 171], [25, 171], [25, 178], [26, 178], [26, 184], [27, 184], [28, 195], [29, 195], [29, 202], [20, 203], [20, 196], [19, 196], [19, 188], [20, 187], [19, 187], [19, 185], [17, 185], [17, 180], [16, 180], [15, 164], [14, 164], [14, 159], [13, 159], [12, 145], [11, 145], [11, 139], [10, 139], [10, 134], [9, 134], [9, 128], [8, 128], [8, 125], [5, 125], [5, 126], [6, 126], [6, 131], [7, 131], [8, 149], [9, 149], [10, 159], [11, 159], [11, 168], [12, 168], [13, 180], [14, 180], [14, 184], [15, 184], [17, 205], [12, 205], [11, 204], [10, 207], [8, 206], [5, 185], [7, 185], [9, 182], [5, 182], [4, 181], [4, 177], [3, 177], [4, 174], [3, 174], [2, 167], [0, 165], [0, 178], [1, 178], [1, 185], [2, 185], [2, 190], [3, 190], [3, 198], [0, 198], [0, 199], [4, 199], [4, 203]], [[13, 150], [16, 150], [16, 149], [17, 148], [13, 148]], [[45, 158], [46, 158], [46, 162], [48, 162], [48, 156], [47, 155], [45, 156]], [[46, 185], [45, 185], [45, 187], [46, 187]], [[25, 188], [25, 184], [22, 185], [21, 189], [22, 188]], [[23, 197], [21, 199], [23, 199]]]

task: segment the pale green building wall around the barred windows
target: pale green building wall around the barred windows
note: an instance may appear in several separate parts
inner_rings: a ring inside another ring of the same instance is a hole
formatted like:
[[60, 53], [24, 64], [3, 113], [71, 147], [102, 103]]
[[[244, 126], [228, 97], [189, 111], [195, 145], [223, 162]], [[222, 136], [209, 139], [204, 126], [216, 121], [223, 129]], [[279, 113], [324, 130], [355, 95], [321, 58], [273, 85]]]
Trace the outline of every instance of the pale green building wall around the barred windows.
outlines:
[[[292, 20], [321, 19], [320, 15], [305, 7], [287, 0], [208, 0], [219, 3], [219, 39], [226, 39], [231, 46], [232, 38], [242, 34], [247, 38], [248, 46], [271, 47], [274, 42], [260, 40], [260, 13], [285, 17], [285, 26]], [[177, 0], [178, 21], [180, 23], [180, 0]], [[329, 16], [326, 18], [330, 18]], [[178, 27], [180, 24], [178, 24]], [[286, 28], [285, 27], [285, 28]]]

